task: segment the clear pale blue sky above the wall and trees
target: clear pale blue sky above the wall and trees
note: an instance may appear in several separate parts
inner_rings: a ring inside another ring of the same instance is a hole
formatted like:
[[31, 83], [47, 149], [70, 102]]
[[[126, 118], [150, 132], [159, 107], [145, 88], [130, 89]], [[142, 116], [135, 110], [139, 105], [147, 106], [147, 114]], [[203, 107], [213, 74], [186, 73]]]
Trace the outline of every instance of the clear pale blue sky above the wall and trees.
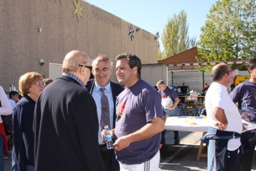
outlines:
[[[76, 0], [74, 0], [76, 1]], [[217, 0], [85, 0], [102, 10], [130, 22], [133, 28], [140, 27], [160, 36], [168, 19], [181, 10], [187, 13], [189, 37], [199, 40], [200, 28], [204, 26], [206, 15]], [[161, 38], [160, 40], [161, 41]]]

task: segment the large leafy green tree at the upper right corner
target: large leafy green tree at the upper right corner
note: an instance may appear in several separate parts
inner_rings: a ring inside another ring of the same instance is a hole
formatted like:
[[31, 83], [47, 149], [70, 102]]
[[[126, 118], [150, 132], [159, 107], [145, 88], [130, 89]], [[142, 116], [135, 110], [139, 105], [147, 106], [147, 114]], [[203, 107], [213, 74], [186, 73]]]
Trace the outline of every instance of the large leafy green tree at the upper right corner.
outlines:
[[[197, 42], [202, 59], [237, 61], [256, 57], [255, 0], [218, 0], [212, 5]], [[237, 66], [236, 66], [237, 68]], [[211, 70], [207, 66], [206, 70]]]

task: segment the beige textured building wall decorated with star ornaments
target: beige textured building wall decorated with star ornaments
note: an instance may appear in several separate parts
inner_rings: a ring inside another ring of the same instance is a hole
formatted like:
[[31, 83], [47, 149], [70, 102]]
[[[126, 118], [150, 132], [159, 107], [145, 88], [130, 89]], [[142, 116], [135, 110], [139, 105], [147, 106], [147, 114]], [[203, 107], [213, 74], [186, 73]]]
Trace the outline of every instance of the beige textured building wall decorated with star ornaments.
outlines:
[[[124, 52], [136, 54], [143, 64], [157, 63], [154, 34], [143, 28], [136, 31], [137, 26], [85, 1], [80, 4], [83, 18], [78, 22], [71, 0], [0, 0], [0, 85], [6, 92], [10, 84], [18, 87], [20, 75], [28, 71], [48, 78], [49, 63], [61, 64], [65, 54], [75, 49], [91, 58], [106, 54], [114, 66], [115, 56]], [[111, 79], [116, 81], [115, 71]]]

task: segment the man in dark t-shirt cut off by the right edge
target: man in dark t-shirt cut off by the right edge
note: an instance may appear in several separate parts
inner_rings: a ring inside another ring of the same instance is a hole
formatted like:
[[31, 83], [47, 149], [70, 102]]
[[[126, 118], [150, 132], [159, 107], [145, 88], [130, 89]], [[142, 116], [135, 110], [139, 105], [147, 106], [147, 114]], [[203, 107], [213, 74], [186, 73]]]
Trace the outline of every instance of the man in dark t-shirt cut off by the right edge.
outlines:
[[[231, 99], [234, 103], [238, 103], [238, 108], [240, 114], [241, 103], [246, 100], [246, 112], [247, 117], [244, 119], [248, 122], [256, 122], [256, 59], [250, 59], [247, 63], [247, 70], [251, 75], [250, 80], [246, 80], [241, 84], [237, 85], [233, 91], [230, 93]], [[249, 171], [252, 168], [253, 153], [256, 145], [256, 130], [246, 131], [244, 133], [246, 137], [250, 140], [251, 148], [248, 151], [244, 151], [242, 154], [239, 152], [239, 161], [243, 171]]]

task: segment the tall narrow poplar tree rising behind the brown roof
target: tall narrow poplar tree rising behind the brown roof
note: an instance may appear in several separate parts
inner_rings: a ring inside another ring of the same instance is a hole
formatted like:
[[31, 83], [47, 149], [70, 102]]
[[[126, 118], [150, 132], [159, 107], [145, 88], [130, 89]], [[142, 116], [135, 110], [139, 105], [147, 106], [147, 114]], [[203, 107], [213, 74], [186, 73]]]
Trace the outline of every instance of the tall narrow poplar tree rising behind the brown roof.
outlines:
[[195, 47], [196, 38], [189, 38], [187, 14], [184, 10], [168, 19], [163, 29], [161, 40], [164, 47], [164, 57], [170, 57], [189, 48]]

